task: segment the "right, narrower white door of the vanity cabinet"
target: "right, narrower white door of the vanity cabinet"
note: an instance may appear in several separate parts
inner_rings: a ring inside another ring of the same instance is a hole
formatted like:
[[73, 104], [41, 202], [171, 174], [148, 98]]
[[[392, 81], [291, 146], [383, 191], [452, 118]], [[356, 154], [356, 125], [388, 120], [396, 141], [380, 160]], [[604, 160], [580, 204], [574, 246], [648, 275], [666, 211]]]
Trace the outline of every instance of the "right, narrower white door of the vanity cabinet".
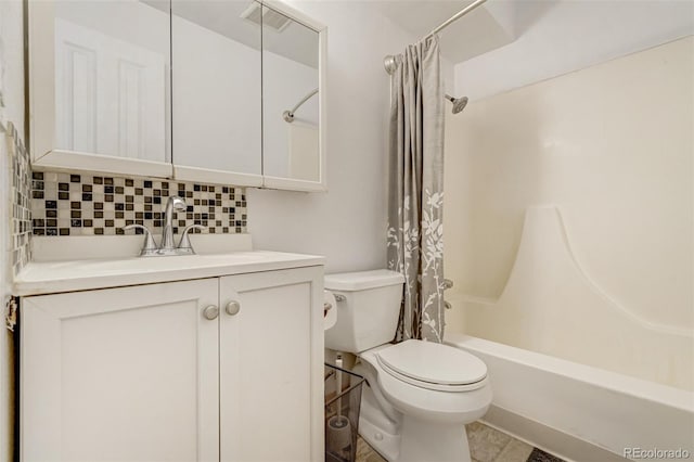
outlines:
[[322, 267], [220, 281], [220, 460], [323, 460]]

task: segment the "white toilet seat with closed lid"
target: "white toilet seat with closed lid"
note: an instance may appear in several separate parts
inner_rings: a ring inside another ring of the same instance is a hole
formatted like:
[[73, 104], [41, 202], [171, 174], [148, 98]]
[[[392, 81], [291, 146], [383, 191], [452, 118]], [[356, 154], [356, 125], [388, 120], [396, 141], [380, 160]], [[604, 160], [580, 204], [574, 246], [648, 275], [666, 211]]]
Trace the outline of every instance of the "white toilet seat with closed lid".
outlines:
[[425, 389], [470, 392], [485, 385], [487, 365], [473, 355], [432, 342], [406, 341], [374, 355], [389, 375]]

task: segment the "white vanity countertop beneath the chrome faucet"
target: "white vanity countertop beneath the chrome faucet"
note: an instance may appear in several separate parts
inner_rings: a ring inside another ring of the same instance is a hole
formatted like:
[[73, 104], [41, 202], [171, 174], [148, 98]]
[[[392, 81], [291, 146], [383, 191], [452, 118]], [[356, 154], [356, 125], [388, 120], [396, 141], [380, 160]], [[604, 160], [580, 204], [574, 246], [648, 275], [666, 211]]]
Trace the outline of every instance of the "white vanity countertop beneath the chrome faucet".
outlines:
[[14, 295], [41, 295], [125, 285], [214, 278], [324, 265], [323, 257], [267, 251], [172, 257], [127, 257], [28, 264]]

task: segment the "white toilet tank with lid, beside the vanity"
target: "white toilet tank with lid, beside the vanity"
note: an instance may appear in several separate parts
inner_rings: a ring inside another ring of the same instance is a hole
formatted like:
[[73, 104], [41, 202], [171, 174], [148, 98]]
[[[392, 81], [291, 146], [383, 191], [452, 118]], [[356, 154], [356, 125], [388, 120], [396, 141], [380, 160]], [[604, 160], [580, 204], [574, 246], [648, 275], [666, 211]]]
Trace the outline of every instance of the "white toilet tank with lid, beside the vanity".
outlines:
[[325, 275], [337, 301], [337, 322], [325, 331], [325, 347], [359, 354], [395, 337], [402, 300], [402, 274], [389, 270]]

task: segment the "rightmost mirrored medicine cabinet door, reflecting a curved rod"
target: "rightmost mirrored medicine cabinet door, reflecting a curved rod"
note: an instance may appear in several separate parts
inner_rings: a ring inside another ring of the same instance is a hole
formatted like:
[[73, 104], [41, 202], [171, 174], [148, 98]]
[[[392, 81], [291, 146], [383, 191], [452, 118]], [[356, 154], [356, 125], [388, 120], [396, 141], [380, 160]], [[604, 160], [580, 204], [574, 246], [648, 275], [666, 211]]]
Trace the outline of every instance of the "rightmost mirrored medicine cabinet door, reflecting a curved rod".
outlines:
[[320, 191], [325, 28], [272, 4], [262, 8], [264, 185]]

